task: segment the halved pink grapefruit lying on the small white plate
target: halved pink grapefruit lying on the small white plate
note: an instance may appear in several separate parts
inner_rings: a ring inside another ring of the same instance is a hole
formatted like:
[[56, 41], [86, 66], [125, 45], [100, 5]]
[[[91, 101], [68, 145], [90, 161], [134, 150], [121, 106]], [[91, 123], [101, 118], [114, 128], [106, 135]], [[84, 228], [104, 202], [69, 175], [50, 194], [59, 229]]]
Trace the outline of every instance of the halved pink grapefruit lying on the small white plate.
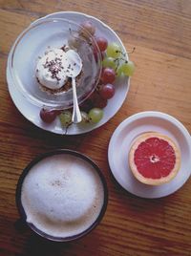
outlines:
[[138, 181], [160, 185], [177, 175], [180, 169], [180, 150], [173, 139], [166, 135], [144, 133], [131, 146], [129, 164]]

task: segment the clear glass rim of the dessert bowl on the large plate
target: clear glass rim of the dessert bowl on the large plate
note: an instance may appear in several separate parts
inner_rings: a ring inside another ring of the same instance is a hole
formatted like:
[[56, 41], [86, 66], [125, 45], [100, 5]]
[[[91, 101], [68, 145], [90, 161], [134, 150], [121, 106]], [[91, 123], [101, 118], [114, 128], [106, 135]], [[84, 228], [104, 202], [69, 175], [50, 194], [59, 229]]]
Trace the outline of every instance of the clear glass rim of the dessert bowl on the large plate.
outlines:
[[[96, 75], [93, 78], [92, 77], [92, 84], [90, 85], [90, 90], [83, 95], [78, 97], [79, 103], [82, 103], [87, 97], [89, 97], [94, 90], [96, 89], [96, 85], [99, 81], [100, 75], [101, 75], [101, 69], [102, 69], [102, 61], [101, 61], [101, 53], [100, 50], [96, 44], [96, 38], [90, 33], [88, 32], [86, 29], [84, 29], [84, 27], [81, 24], [78, 24], [77, 22], [71, 20], [71, 19], [67, 19], [67, 18], [42, 18], [42, 19], [38, 19], [36, 21], [34, 21], [32, 24], [30, 24], [30, 26], [28, 26], [23, 32], [21, 32], [16, 40], [14, 41], [13, 45], [11, 46], [11, 54], [10, 57], [8, 59], [8, 69], [10, 71], [10, 75], [11, 75], [11, 80], [12, 80], [12, 85], [16, 88], [16, 90], [19, 91], [19, 93], [21, 93], [22, 96], [24, 96], [27, 100], [29, 100], [33, 105], [36, 105], [38, 107], [47, 107], [50, 109], [67, 109], [67, 108], [71, 108], [73, 107], [73, 98], [72, 96], [70, 97], [70, 103], [67, 105], [65, 105], [65, 100], [57, 100], [57, 96], [61, 96], [61, 94], [55, 94], [55, 96], [51, 99], [51, 100], [46, 100], [44, 99], [43, 101], [38, 98], [36, 95], [31, 95], [28, 93], [28, 91], [26, 90], [26, 88], [24, 86], [20, 86], [19, 85], [19, 75], [16, 73], [15, 68], [14, 68], [14, 59], [15, 59], [15, 53], [17, 51], [17, 47], [18, 45], [22, 42], [23, 39], [25, 39], [25, 37], [28, 35], [28, 32], [32, 32], [32, 30], [35, 30], [35, 28], [38, 28], [39, 26], [43, 25], [43, 24], [48, 24], [48, 23], [59, 23], [59, 22], [63, 22], [63, 23], [67, 23], [68, 24], [68, 28], [65, 28], [65, 30], [71, 30], [70, 29], [70, 25], [74, 25], [75, 28], [78, 29], [82, 29], [83, 32], [85, 34], [87, 34], [89, 36], [89, 38], [91, 38], [91, 42], [92, 45], [94, 44], [94, 47], [96, 49]], [[64, 28], [64, 27], [63, 27]], [[64, 32], [64, 29], [63, 29]], [[34, 42], [34, 44], [38, 44]], [[62, 46], [64, 45], [64, 43], [62, 43]], [[60, 46], [60, 47], [62, 47]], [[46, 51], [46, 47], [49, 47], [49, 43], [44, 47], [44, 52]], [[91, 48], [92, 46], [90, 46], [89, 48]], [[53, 47], [50, 48], [50, 50], [53, 49]], [[94, 54], [93, 49], [92, 49], [92, 55]], [[33, 56], [33, 58], [38, 57], [37, 56]], [[91, 65], [90, 65], [91, 66]], [[35, 74], [33, 74], [35, 75]], [[22, 83], [22, 82], [20, 82]], [[83, 83], [81, 85], [81, 87], [83, 86]], [[70, 90], [68, 90], [70, 91]], [[68, 91], [66, 93], [63, 93], [62, 96], [66, 95], [68, 93]], [[47, 93], [44, 92], [44, 94], [46, 95]], [[72, 93], [70, 92], [70, 94], [72, 95]]]

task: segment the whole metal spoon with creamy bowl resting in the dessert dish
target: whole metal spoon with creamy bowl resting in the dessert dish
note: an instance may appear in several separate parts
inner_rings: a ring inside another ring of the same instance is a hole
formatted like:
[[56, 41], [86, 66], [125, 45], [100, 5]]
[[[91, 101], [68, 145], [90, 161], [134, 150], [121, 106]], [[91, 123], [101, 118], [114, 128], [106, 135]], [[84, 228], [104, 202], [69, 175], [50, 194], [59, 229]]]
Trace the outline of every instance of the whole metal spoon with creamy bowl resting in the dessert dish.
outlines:
[[72, 78], [72, 86], [73, 86], [73, 117], [72, 121], [74, 123], [78, 123], [82, 120], [81, 113], [79, 110], [79, 105], [76, 96], [76, 86], [75, 86], [75, 77], [80, 74], [82, 69], [82, 61], [78, 53], [74, 52], [74, 50], [69, 50], [67, 53], [68, 62], [70, 63], [70, 72], [67, 74]]

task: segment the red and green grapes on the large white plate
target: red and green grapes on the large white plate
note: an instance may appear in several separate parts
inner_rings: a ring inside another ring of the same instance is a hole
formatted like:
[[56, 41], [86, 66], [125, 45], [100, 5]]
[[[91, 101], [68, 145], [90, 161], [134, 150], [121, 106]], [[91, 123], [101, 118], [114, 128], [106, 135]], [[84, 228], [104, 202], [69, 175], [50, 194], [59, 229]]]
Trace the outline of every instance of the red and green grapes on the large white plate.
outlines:
[[[91, 41], [92, 36], [102, 56], [102, 71], [95, 92], [79, 106], [81, 124], [99, 122], [104, 115], [103, 109], [107, 106], [108, 100], [115, 96], [116, 78], [120, 75], [131, 76], [135, 71], [134, 62], [127, 60], [121, 47], [116, 42], [109, 43], [103, 36], [96, 36], [96, 27], [89, 20], [82, 23], [80, 30], [71, 35], [68, 40], [69, 46], [77, 48], [81, 40]], [[42, 109], [40, 112], [41, 119], [47, 123], [51, 123], [57, 116], [62, 126], [67, 127], [72, 124], [72, 110]]]

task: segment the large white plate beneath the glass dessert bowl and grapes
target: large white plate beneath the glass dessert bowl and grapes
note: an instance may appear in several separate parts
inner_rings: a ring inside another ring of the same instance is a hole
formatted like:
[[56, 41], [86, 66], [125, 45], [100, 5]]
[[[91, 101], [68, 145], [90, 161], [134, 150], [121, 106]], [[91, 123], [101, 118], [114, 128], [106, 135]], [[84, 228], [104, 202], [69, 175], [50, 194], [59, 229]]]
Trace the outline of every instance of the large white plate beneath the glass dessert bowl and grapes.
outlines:
[[[61, 11], [61, 12], [52, 13], [41, 19], [51, 18], [51, 17], [67, 18], [77, 23], [81, 23], [84, 20], [89, 19], [96, 26], [97, 34], [106, 36], [109, 42], [117, 42], [117, 44], [121, 46], [122, 51], [126, 53], [126, 50], [120, 38], [117, 36], [117, 33], [93, 16], [89, 16], [84, 13], [74, 12], [74, 11]], [[8, 61], [10, 61], [10, 55], [9, 55]], [[69, 127], [67, 131], [67, 135], [77, 135], [77, 134], [90, 132], [96, 129], [97, 127], [105, 124], [110, 118], [114, 117], [127, 96], [127, 93], [129, 90], [129, 80], [130, 79], [128, 77], [124, 77], [117, 80], [116, 94], [113, 98], [108, 100], [108, 105], [104, 108], [104, 117], [97, 124], [86, 124], [83, 126], [73, 124]], [[22, 96], [19, 92], [16, 91], [15, 87], [12, 85], [11, 75], [8, 69], [7, 69], [7, 81], [8, 81], [8, 87], [11, 94], [11, 98], [15, 106], [17, 107], [17, 109], [20, 111], [20, 113], [24, 117], [26, 117], [33, 124], [35, 124], [36, 126], [44, 130], [53, 132], [55, 134], [65, 134], [65, 129], [61, 127], [58, 118], [55, 119], [55, 121], [53, 121], [53, 123], [51, 124], [46, 124], [43, 121], [41, 121], [41, 119], [39, 118], [40, 108], [35, 105], [32, 105], [32, 103], [27, 101], [27, 99], [24, 98], [24, 96]]]

